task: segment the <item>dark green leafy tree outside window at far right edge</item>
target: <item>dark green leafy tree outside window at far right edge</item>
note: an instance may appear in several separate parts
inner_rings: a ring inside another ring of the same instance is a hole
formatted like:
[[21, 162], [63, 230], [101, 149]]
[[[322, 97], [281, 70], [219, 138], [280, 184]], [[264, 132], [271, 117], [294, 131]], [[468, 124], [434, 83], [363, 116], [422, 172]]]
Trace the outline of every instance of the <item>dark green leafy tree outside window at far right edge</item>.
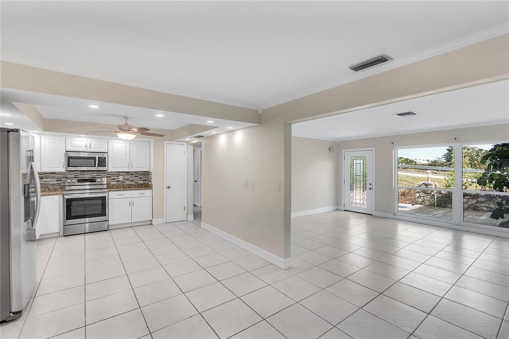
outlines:
[[[486, 165], [484, 173], [477, 179], [477, 185], [493, 185], [496, 192], [509, 191], [509, 143], [496, 144], [480, 159]], [[502, 195], [490, 217], [498, 220], [509, 214], [509, 195]]]

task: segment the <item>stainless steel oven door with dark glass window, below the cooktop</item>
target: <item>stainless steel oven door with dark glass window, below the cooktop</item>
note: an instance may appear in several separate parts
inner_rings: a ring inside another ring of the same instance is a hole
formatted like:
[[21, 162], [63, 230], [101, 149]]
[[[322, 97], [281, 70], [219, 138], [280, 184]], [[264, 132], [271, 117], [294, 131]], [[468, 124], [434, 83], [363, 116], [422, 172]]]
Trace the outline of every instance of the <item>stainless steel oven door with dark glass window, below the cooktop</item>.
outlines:
[[64, 195], [64, 224], [108, 220], [107, 194]]

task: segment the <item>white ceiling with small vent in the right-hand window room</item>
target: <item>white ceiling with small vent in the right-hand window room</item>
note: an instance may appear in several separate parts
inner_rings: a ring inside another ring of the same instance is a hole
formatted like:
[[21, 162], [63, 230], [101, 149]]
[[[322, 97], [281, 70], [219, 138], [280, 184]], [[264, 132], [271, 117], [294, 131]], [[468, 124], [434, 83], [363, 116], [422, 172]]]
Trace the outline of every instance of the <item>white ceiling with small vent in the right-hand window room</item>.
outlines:
[[[410, 110], [418, 115], [393, 116]], [[296, 123], [292, 135], [349, 140], [499, 123], [509, 123], [509, 80]]]

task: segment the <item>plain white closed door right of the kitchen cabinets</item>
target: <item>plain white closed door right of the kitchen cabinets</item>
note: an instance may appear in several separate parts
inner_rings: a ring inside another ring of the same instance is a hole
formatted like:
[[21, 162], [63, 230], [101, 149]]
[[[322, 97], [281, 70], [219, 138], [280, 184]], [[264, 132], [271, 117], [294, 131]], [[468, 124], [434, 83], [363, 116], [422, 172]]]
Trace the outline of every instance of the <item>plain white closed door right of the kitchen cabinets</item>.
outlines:
[[166, 145], [166, 222], [186, 220], [186, 146]]

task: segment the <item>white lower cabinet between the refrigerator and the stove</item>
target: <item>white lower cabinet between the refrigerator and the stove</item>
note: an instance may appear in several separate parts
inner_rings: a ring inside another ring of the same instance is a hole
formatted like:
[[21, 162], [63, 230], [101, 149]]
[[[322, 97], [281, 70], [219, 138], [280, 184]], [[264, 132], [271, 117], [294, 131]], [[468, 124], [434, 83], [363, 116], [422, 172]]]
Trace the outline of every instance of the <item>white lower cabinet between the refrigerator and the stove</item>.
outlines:
[[43, 195], [41, 210], [36, 224], [37, 238], [46, 234], [60, 233], [62, 223], [63, 200], [62, 195]]

